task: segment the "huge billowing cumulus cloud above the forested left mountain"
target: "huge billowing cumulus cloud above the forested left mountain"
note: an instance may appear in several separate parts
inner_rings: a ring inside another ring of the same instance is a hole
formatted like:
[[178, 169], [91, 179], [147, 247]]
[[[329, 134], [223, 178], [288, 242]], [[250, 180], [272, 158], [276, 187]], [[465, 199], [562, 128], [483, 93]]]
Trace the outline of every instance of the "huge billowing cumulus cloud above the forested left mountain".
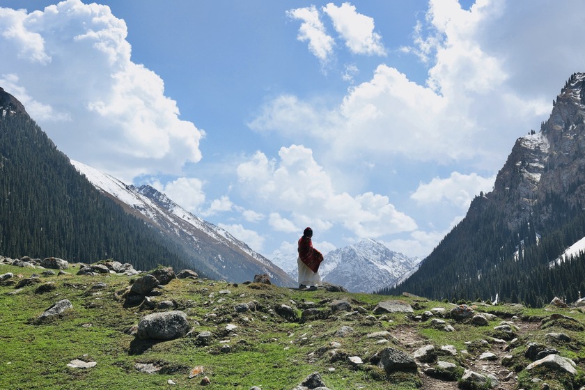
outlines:
[[201, 159], [204, 132], [180, 120], [158, 75], [132, 62], [126, 24], [109, 7], [0, 8], [0, 31], [0, 52], [17, 53], [2, 59], [5, 90], [70, 157], [126, 182]]

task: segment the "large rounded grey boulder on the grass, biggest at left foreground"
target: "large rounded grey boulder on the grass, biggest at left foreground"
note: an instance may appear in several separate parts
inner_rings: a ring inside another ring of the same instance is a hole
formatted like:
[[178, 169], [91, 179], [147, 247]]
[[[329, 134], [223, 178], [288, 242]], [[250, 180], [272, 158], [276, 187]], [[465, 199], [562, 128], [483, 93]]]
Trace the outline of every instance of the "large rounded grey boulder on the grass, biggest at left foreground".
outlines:
[[172, 340], [185, 336], [189, 331], [187, 314], [182, 311], [165, 311], [146, 315], [138, 323], [141, 340]]

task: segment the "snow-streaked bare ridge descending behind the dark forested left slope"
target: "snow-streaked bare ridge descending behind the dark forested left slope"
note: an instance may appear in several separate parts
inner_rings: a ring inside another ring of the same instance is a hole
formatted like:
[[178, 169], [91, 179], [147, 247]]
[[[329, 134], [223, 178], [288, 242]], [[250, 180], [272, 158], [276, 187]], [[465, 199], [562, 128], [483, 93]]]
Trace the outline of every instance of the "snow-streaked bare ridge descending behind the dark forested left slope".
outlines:
[[216, 279], [242, 282], [256, 274], [268, 274], [280, 286], [295, 286], [296, 281], [270, 260], [250, 249], [247, 244], [210, 222], [171, 201], [153, 187], [134, 187], [72, 161], [75, 168], [102, 194], [109, 196], [124, 210], [155, 226], [166, 239], [189, 253], [192, 267], [202, 268]]

